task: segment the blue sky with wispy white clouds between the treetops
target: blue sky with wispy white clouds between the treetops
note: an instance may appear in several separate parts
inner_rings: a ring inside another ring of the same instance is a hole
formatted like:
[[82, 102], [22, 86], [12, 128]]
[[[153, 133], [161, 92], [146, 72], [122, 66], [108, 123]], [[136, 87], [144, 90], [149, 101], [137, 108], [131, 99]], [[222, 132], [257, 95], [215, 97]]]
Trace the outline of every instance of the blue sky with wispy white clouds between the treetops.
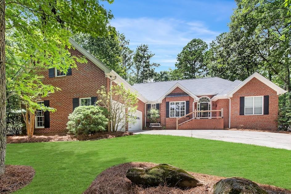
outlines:
[[193, 38], [207, 44], [228, 31], [234, 0], [115, 0], [105, 4], [114, 15], [111, 25], [130, 40], [130, 48], [148, 44], [157, 71], [174, 69], [178, 53]]

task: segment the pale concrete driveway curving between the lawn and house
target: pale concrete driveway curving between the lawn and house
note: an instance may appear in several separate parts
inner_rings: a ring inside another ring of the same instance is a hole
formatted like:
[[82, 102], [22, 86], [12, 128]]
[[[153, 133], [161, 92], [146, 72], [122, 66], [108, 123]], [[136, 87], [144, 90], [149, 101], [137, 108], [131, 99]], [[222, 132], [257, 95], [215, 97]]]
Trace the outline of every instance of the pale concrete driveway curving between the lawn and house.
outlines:
[[177, 135], [291, 150], [291, 134], [285, 133], [231, 130], [150, 130], [134, 132], [134, 134]]

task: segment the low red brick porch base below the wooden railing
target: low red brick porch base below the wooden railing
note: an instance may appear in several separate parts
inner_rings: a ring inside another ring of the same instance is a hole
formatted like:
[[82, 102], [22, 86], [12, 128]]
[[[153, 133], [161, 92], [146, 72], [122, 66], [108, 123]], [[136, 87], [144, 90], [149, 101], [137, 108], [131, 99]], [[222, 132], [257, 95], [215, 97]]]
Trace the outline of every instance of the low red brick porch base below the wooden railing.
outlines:
[[178, 129], [223, 129], [223, 120], [216, 119], [193, 119], [178, 126]]

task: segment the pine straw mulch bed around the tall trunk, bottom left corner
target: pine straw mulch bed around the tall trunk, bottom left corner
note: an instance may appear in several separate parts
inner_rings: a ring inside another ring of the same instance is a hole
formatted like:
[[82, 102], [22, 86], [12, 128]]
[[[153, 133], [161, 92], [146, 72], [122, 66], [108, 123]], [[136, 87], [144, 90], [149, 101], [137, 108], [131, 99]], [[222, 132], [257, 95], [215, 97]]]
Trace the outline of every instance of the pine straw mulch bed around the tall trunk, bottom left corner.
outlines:
[[4, 175], [0, 176], [0, 193], [11, 193], [29, 184], [35, 175], [30, 166], [6, 165]]

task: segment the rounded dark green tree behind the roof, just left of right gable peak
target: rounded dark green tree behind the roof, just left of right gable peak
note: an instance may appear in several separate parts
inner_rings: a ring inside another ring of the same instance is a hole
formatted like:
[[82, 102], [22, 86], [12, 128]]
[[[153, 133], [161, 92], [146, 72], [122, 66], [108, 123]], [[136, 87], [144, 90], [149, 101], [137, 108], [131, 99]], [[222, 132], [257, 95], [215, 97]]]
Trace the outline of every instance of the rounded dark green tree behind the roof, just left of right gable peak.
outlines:
[[244, 80], [260, 69], [252, 47], [240, 33], [223, 33], [210, 44], [207, 67], [211, 76], [228, 80]]

